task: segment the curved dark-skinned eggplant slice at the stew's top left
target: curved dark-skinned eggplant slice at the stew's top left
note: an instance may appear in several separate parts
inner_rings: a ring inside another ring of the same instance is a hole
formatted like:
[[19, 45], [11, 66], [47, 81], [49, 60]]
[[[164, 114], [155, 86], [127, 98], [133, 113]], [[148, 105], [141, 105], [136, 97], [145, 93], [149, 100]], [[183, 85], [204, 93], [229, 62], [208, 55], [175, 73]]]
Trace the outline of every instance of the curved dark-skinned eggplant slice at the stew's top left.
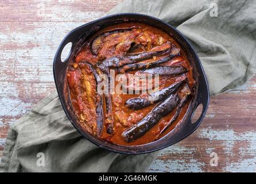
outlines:
[[116, 28], [112, 30], [107, 30], [106, 32], [102, 32], [98, 34], [97, 36], [93, 37], [93, 39], [90, 41], [90, 49], [93, 55], [97, 55], [99, 53], [99, 49], [101, 45], [103, 44], [103, 40], [106, 36], [113, 34], [113, 33], [118, 33], [118, 32], [125, 32], [129, 31], [133, 28]]

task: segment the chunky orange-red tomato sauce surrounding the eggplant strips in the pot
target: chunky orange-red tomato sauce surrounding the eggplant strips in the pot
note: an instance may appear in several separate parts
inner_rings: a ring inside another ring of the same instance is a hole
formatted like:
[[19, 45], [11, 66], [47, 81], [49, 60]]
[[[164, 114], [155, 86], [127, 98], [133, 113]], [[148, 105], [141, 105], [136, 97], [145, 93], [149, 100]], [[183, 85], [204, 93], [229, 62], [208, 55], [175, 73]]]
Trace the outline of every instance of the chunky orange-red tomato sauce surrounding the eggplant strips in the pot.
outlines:
[[[71, 60], [67, 70], [67, 83], [72, 108], [76, 112], [77, 119], [81, 122], [85, 131], [88, 131], [94, 136], [98, 136], [99, 139], [110, 141], [113, 144], [141, 145], [161, 139], [161, 137], [175, 129], [176, 125], [179, 124], [189, 109], [191, 99], [182, 106], [178, 118], [176, 118], [174, 123], [172, 123], [165, 132], [160, 134], [161, 130], [175, 116], [178, 108], [172, 110], [167, 116], [161, 117], [152, 128], [138, 139], [130, 142], [123, 139], [122, 133], [124, 131], [141, 121], [160, 103], [155, 103], [138, 110], [128, 108], [125, 105], [127, 100], [135, 97], [144, 97], [145, 94], [141, 94], [141, 91], [138, 90], [140, 94], [111, 94], [111, 116], [114, 118], [112, 133], [108, 133], [107, 131], [108, 124], [106, 119], [109, 114], [106, 106], [108, 104], [103, 100], [103, 122], [101, 122], [103, 127], [100, 134], [97, 133], [97, 129], [99, 129], [99, 122], [97, 122], [97, 103], [100, 102], [101, 98], [105, 99], [106, 95], [103, 94], [100, 96], [97, 94], [97, 81], [90, 68], [90, 66], [93, 66], [97, 71], [100, 71], [97, 67], [98, 63], [110, 59], [113, 56], [120, 56], [122, 60], [126, 61], [126, 59], [123, 59], [126, 58], [126, 56], [135, 53], [155, 51], [159, 49], [161, 45], [167, 43], [174, 44], [175, 47], [180, 50], [180, 54], [168, 60], [168, 62], [160, 63], [157, 66], [183, 66], [186, 68], [187, 72], [180, 75], [160, 75], [159, 87], [157, 87], [157, 90], [164, 89], [165, 87], [173, 85], [175, 82], [179, 82], [186, 78], [190, 92], [193, 94], [195, 83], [193, 78], [193, 68], [187, 59], [186, 53], [180, 48], [170, 34], [146, 24], [127, 22], [108, 26], [107, 28], [100, 30], [100, 32], [96, 33], [95, 36], [92, 36], [91, 39], [84, 43], [80, 51], [78, 51]], [[143, 64], [155, 62], [164, 56], [165, 55], [153, 56], [145, 60], [140, 60], [137, 63]], [[89, 63], [89, 65], [86, 63]], [[115, 70], [117, 67], [119, 66], [111, 65], [110, 68]], [[140, 72], [140, 70], [127, 71], [125, 72], [125, 75], [128, 76], [129, 74], [131, 75], [137, 72]], [[100, 73], [103, 74], [104, 71], [100, 71]], [[115, 76], [118, 74], [119, 72], [115, 70]], [[118, 80], [114, 81], [114, 86], [117, 87], [118, 83]], [[181, 97], [183, 96], [182, 90], [178, 90], [176, 93], [179, 93]]]

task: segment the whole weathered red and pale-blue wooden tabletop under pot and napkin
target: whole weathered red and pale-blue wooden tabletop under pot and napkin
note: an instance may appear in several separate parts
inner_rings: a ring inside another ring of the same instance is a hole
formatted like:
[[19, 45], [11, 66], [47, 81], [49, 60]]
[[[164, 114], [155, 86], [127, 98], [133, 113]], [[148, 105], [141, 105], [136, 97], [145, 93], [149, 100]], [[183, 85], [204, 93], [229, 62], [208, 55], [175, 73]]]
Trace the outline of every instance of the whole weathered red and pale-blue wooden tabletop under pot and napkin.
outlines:
[[[9, 126], [55, 91], [52, 60], [71, 30], [122, 0], [0, 0], [0, 157]], [[159, 172], [255, 172], [256, 77], [212, 97], [201, 127], [166, 148]]]

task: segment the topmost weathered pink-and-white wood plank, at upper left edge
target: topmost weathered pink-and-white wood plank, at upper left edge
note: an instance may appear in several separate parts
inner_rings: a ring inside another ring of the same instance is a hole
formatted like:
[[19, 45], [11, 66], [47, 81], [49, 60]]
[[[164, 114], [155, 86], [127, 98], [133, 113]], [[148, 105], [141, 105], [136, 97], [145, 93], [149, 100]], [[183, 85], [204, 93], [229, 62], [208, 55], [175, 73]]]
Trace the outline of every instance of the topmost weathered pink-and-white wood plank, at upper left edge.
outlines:
[[26, 22], [82, 22], [103, 16], [123, 0], [54, 0], [25, 1], [1, 0], [0, 21]]

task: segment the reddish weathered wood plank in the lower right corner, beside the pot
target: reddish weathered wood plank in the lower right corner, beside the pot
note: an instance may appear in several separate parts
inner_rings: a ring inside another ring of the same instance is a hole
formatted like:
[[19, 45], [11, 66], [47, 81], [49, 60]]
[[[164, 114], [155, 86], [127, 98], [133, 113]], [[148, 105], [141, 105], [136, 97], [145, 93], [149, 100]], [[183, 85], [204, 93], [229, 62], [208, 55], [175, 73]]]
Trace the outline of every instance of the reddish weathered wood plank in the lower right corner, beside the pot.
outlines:
[[[255, 90], [212, 97], [197, 131], [166, 148], [149, 171], [255, 172], [255, 97]], [[210, 166], [212, 152], [218, 166]]]

